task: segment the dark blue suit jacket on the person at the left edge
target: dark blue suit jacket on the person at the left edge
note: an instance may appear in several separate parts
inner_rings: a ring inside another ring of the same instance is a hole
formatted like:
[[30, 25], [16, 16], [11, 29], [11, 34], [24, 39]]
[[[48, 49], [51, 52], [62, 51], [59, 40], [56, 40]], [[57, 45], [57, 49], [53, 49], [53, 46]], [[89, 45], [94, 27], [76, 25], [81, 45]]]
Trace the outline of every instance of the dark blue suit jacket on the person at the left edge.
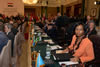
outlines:
[[0, 31], [0, 53], [3, 47], [7, 44], [7, 42], [8, 42], [7, 36], [3, 32]]

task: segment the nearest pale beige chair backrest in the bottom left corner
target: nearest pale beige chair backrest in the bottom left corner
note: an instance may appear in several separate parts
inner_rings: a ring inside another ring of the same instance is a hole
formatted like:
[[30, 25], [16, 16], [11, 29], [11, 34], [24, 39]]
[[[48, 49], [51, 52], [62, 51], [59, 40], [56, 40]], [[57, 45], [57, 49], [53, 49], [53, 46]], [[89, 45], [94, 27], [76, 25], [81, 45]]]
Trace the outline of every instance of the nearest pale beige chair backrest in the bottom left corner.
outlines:
[[7, 45], [4, 46], [0, 55], [0, 67], [9, 67], [11, 55], [11, 40], [8, 41]]

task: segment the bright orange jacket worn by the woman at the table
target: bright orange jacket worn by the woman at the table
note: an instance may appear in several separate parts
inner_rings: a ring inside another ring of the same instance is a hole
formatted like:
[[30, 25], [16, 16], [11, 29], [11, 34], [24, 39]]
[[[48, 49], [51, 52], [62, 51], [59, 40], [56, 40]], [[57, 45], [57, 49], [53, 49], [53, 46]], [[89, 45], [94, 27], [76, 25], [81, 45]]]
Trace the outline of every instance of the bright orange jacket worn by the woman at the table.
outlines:
[[[75, 43], [76, 36], [73, 36], [71, 45], [69, 46], [70, 50], [73, 50], [73, 45]], [[94, 59], [94, 50], [93, 44], [88, 38], [84, 38], [80, 43], [79, 48], [75, 51], [73, 56], [79, 57], [82, 63], [91, 61]]]

